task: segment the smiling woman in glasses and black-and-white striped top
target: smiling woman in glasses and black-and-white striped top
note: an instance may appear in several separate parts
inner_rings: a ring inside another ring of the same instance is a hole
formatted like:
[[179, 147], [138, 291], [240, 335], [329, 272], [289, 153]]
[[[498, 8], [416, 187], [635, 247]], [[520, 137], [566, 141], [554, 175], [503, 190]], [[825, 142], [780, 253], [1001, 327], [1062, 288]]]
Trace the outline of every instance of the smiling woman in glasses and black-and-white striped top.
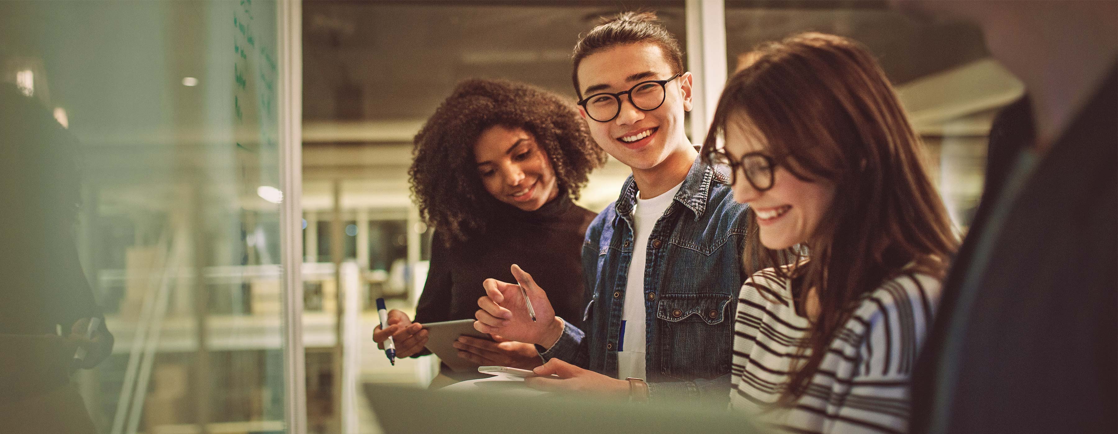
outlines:
[[732, 167], [764, 244], [747, 255], [769, 267], [741, 288], [732, 406], [788, 432], [906, 432], [957, 245], [920, 139], [860, 44], [803, 33], [757, 52], [703, 148]]

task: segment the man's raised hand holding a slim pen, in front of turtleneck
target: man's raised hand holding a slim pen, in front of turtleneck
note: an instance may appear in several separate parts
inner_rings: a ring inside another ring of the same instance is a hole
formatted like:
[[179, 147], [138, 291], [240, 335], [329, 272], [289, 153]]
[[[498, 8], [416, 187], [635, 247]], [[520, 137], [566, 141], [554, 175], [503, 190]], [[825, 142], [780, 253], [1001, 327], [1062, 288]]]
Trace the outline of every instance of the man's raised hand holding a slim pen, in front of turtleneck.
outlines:
[[562, 320], [532, 276], [512, 266], [512, 276], [519, 283], [485, 279], [485, 297], [477, 299], [474, 317], [477, 331], [500, 335], [506, 339], [550, 347], [562, 332]]

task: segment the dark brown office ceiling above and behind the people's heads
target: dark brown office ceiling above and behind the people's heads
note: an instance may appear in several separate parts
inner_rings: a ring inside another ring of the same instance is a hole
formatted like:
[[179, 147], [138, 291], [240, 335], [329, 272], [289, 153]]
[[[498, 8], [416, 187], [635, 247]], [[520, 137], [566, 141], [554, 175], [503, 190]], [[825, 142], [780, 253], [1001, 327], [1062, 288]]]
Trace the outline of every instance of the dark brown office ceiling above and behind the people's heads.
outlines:
[[[303, 117], [421, 122], [468, 77], [528, 81], [574, 100], [578, 35], [599, 16], [642, 7], [685, 46], [682, 1], [307, 1]], [[806, 30], [861, 40], [894, 84], [986, 56], [974, 27], [916, 20], [879, 1], [730, 1], [729, 68], [758, 42]]]

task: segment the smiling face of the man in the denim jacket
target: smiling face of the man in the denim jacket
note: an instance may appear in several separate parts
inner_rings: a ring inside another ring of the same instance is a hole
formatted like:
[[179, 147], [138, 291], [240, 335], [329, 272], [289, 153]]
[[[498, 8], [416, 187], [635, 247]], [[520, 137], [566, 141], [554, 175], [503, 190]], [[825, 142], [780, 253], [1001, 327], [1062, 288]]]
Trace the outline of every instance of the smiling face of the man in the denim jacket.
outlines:
[[[632, 44], [608, 48], [585, 57], [578, 65], [582, 97], [597, 93], [629, 90], [646, 80], [664, 80], [674, 75], [661, 48]], [[609, 155], [635, 170], [648, 170], [673, 152], [690, 146], [683, 129], [684, 112], [691, 110], [691, 73], [665, 85], [664, 103], [645, 112], [622, 96], [620, 113], [613, 120], [597, 122], [579, 107], [590, 135]]]

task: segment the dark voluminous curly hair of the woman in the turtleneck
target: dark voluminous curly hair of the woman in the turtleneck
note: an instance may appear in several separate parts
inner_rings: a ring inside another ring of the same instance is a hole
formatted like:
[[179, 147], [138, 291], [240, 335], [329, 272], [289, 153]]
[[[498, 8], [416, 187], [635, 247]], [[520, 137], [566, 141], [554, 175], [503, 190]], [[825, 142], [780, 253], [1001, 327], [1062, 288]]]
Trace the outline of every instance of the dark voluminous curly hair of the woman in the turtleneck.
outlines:
[[606, 162], [605, 151], [562, 97], [508, 80], [459, 83], [416, 134], [408, 170], [420, 215], [447, 244], [484, 231], [496, 210], [499, 202], [474, 163], [474, 144], [494, 125], [534, 136], [556, 172], [560, 194], [571, 199], [578, 199], [590, 171]]

